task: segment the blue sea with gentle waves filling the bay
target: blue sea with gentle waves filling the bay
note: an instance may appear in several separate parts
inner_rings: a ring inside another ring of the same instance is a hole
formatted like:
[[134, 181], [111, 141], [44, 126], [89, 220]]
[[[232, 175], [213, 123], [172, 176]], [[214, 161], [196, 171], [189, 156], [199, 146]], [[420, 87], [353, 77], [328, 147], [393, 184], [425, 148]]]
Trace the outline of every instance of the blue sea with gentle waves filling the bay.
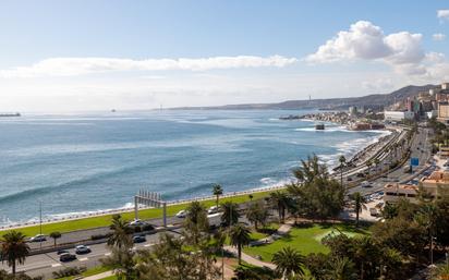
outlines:
[[172, 200], [286, 182], [315, 153], [335, 165], [380, 132], [310, 121], [306, 111], [154, 111], [0, 119], [0, 223], [124, 207], [139, 188]]

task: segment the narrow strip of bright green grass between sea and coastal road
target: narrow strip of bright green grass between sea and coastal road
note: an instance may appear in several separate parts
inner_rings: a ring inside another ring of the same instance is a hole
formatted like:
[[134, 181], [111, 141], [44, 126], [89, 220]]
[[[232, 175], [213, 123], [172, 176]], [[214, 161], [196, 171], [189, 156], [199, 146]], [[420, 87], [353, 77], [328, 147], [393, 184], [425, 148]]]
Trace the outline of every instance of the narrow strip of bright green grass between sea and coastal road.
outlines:
[[[253, 199], [259, 199], [269, 195], [270, 192], [259, 192], [253, 193]], [[248, 195], [239, 195], [228, 198], [222, 198], [220, 202], [233, 202], [233, 203], [244, 203], [250, 200]], [[215, 199], [209, 199], [203, 202], [203, 204], [207, 207], [215, 205]], [[174, 216], [178, 211], [184, 209], [187, 204], [181, 205], [173, 205], [167, 207], [167, 215]], [[134, 219], [134, 211], [123, 212], [121, 214], [125, 220]], [[141, 219], [154, 219], [154, 218], [161, 218], [162, 217], [162, 209], [143, 209], [138, 212]], [[107, 227], [111, 223], [112, 215], [99, 216], [99, 217], [92, 217], [78, 220], [71, 220], [71, 221], [61, 221], [54, 223], [47, 223], [43, 226], [43, 233], [49, 234], [53, 231], [59, 231], [61, 233], [75, 231], [75, 230], [86, 230], [92, 228], [98, 227]], [[0, 231], [0, 235], [2, 235], [8, 230]], [[26, 236], [34, 236], [39, 233], [39, 226], [32, 226], [21, 228], [20, 231], [24, 233]]]

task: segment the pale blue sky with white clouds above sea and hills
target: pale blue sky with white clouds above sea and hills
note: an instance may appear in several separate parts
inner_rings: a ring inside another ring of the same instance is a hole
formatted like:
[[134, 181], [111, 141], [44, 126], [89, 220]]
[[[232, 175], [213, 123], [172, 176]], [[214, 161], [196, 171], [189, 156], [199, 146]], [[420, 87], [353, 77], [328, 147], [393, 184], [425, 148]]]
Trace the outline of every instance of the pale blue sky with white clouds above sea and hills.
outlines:
[[0, 2], [0, 112], [148, 110], [449, 82], [449, 0]]

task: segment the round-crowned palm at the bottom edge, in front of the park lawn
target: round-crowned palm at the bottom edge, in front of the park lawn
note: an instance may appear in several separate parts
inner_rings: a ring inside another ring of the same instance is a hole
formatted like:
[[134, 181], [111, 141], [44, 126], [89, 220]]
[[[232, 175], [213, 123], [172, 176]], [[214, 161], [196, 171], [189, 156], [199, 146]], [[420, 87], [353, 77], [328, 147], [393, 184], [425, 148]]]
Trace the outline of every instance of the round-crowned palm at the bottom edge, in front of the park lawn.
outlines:
[[282, 248], [272, 256], [271, 261], [276, 265], [276, 271], [282, 275], [284, 279], [289, 279], [295, 275], [304, 275], [304, 256], [294, 248]]

